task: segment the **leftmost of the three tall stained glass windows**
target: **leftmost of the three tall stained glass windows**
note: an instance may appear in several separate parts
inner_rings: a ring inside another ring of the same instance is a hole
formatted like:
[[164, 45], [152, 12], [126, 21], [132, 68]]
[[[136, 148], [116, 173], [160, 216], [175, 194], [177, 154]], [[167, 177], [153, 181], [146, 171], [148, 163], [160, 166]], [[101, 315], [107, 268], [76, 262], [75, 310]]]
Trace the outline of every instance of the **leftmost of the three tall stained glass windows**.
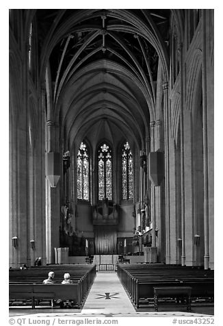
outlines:
[[83, 142], [77, 153], [77, 198], [89, 200], [89, 156]]

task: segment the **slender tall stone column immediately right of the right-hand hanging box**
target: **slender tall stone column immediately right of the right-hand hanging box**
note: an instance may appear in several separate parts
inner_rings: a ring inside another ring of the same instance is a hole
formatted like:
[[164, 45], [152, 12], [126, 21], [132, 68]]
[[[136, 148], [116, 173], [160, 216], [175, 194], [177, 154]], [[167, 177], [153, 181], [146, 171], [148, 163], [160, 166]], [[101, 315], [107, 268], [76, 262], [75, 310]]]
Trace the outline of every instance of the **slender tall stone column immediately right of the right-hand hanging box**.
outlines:
[[165, 198], [166, 198], [166, 264], [170, 264], [170, 171], [169, 171], [169, 112], [168, 83], [163, 84]]

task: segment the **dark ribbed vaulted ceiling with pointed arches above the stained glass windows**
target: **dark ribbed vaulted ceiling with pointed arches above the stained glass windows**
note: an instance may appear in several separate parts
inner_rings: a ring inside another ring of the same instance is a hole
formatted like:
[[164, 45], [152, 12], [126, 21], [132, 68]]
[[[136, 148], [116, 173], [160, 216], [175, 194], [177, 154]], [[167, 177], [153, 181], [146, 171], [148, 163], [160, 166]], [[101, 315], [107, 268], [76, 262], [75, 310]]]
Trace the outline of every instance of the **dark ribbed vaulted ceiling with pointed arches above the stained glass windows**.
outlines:
[[64, 147], [128, 138], [144, 147], [158, 62], [168, 69], [170, 10], [37, 10], [42, 77]]

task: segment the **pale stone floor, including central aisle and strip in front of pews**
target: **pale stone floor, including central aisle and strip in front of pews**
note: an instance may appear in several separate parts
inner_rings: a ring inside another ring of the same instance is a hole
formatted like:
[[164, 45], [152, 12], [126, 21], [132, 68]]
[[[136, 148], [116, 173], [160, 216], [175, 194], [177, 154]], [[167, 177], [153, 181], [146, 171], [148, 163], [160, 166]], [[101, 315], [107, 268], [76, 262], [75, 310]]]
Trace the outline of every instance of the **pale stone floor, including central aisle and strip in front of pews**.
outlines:
[[176, 308], [172, 305], [162, 306], [155, 312], [153, 306], [136, 309], [125, 292], [118, 276], [114, 272], [98, 272], [81, 310], [41, 307], [10, 308], [10, 317], [14, 316], [213, 316], [213, 304], [193, 305], [192, 311]]

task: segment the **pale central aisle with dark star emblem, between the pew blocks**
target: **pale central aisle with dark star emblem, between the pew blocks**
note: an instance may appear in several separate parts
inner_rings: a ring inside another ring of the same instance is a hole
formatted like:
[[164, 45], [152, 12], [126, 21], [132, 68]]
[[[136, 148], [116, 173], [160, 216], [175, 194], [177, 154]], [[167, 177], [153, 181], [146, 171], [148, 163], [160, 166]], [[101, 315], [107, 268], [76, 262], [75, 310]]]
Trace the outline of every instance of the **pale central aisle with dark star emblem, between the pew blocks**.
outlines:
[[97, 272], [82, 312], [133, 314], [135, 309], [116, 273]]

